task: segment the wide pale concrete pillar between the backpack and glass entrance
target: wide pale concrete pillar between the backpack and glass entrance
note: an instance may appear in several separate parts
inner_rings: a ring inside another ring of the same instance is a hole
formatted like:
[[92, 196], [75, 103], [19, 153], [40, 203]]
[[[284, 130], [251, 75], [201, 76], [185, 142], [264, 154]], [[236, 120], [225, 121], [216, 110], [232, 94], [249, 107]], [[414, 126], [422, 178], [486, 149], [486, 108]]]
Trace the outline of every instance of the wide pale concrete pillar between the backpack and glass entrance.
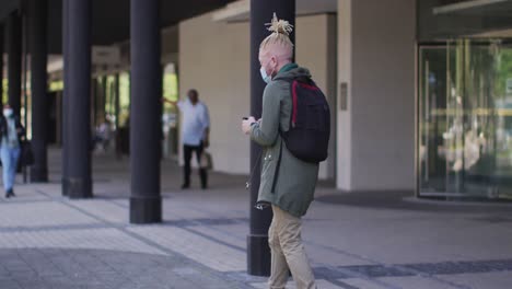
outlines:
[[340, 189], [414, 189], [415, 4], [338, 0]]

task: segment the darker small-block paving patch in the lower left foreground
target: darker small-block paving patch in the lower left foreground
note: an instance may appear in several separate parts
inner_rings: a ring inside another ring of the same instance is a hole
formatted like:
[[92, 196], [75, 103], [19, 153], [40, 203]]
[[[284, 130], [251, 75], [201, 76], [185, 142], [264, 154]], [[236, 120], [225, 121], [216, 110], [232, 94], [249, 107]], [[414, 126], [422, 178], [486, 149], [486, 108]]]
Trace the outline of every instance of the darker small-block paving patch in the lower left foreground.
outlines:
[[[207, 267], [197, 268], [197, 265], [177, 255], [155, 256], [104, 250], [58, 250], [56, 253], [51, 248], [26, 248], [19, 250], [19, 254], [4, 251], [0, 250], [2, 256], [10, 256], [12, 259], [2, 262], [18, 267], [8, 270], [8, 279], [0, 280], [0, 284], [5, 285], [0, 287], [2, 289], [8, 286], [18, 288], [18, 284], [22, 288], [243, 288], [234, 280], [224, 280], [221, 275]], [[98, 259], [98, 255], [104, 257]], [[46, 259], [48, 256], [51, 261]], [[54, 264], [56, 273], [42, 276], [31, 269], [30, 262], [35, 262], [36, 258], [37, 263]], [[113, 264], [109, 263], [110, 259]], [[129, 262], [119, 266], [120, 259]], [[68, 269], [62, 269], [65, 267]], [[179, 287], [181, 285], [194, 287]]]

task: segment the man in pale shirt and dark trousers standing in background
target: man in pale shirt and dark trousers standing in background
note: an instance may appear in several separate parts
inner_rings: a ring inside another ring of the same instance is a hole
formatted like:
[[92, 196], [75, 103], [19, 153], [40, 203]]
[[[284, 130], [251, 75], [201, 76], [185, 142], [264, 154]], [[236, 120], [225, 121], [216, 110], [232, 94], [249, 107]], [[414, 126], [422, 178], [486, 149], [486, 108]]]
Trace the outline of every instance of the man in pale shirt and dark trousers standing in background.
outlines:
[[[183, 189], [190, 187], [190, 161], [193, 152], [196, 152], [197, 162], [200, 163], [201, 154], [205, 148], [209, 147], [210, 135], [210, 116], [208, 107], [199, 101], [197, 90], [189, 90], [188, 97], [185, 101], [173, 102], [165, 100], [164, 102], [176, 105], [183, 114], [182, 124], [182, 142], [184, 152], [184, 182]], [[206, 169], [199, 169], [201, 178], [201, 187], [208, 187], [208, 173]]]

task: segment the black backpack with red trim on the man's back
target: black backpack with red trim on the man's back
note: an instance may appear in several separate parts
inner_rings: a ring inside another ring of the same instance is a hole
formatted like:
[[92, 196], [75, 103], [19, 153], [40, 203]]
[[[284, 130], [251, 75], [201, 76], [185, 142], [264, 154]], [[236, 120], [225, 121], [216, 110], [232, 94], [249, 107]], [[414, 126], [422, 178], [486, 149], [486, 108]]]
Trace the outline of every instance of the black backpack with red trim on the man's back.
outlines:
[[290, 81], [292, 114], [290, 129], [281, 131], [288, 150], [299, 160], [319, 163], [327, 159], [330, 111], [327, 100], [310, 78]]

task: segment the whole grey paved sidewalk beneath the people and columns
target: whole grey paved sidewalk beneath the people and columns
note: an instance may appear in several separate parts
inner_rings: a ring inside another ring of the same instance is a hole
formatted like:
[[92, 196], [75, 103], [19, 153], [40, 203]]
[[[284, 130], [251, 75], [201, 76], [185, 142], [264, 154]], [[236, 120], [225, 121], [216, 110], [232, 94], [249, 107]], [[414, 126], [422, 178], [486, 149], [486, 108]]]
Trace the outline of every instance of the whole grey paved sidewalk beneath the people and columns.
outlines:
[[[95, 158], [88, 200], [60, 196], [57, 150], [50, 160], [53, 183], [0, 199], [1, 289], [266, 288], [245, 274], [244, 176], [181, 190], [179, 169], [164, 162], [165, 221], [132, 226], [127, 160]], [[303, 239], [319, 288], [511, 288], [511, 205], [385, 195], [318, 189]]]

